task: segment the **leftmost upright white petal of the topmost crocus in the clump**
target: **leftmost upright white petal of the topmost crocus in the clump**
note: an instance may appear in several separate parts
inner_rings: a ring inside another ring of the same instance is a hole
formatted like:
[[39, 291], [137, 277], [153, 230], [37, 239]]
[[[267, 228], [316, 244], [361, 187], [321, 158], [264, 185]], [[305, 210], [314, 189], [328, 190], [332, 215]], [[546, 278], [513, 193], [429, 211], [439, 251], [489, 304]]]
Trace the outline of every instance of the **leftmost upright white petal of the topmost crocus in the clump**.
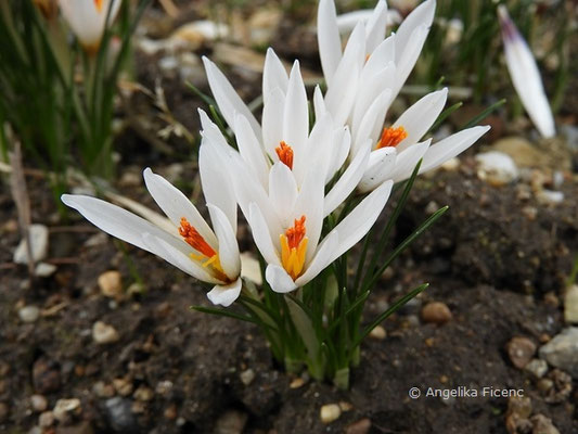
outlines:
[[333, 0], [321, 0], [317, 13], [317, 38], [323, 76], [327, 86], [342, 59], [342, 39], [337, 29], [337, 13]]

